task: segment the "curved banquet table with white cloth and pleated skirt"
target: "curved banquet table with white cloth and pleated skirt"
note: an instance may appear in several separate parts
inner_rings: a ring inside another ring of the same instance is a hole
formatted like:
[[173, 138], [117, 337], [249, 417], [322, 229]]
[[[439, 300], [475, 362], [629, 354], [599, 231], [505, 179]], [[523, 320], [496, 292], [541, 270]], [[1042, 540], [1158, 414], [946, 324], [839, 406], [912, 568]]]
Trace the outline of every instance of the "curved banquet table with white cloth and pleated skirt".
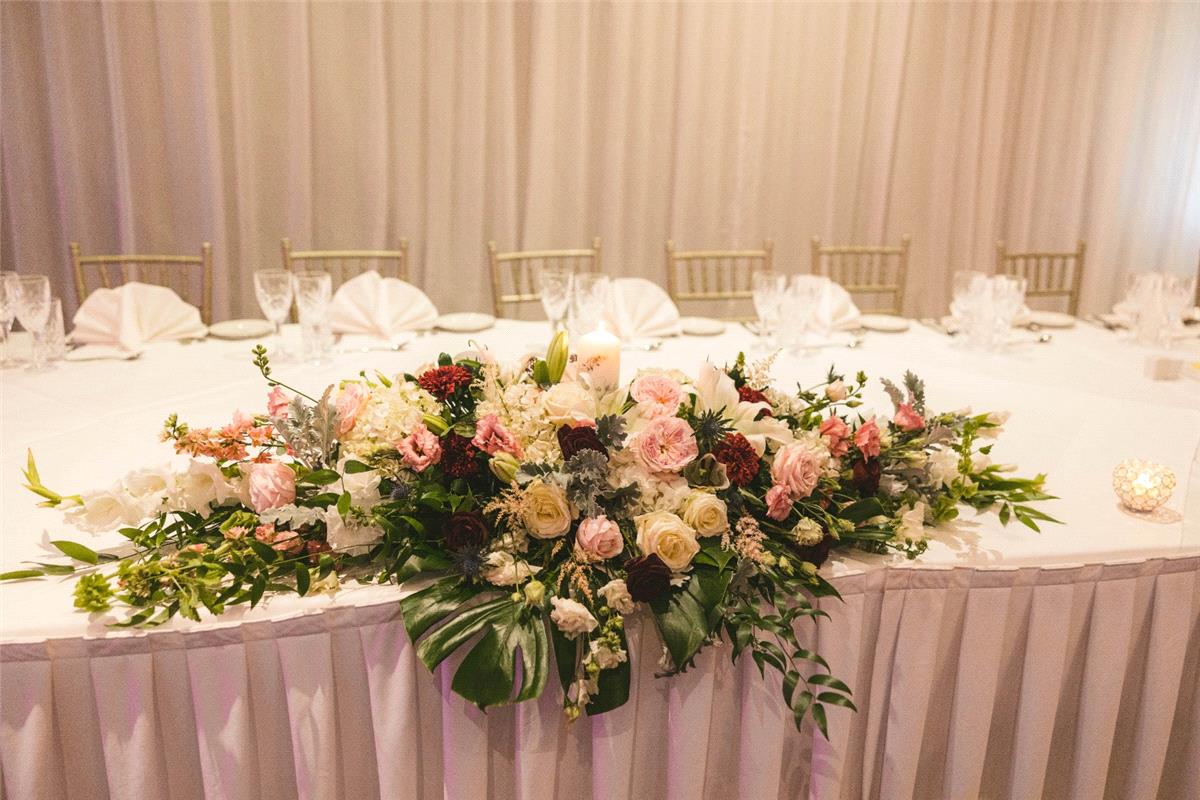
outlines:
[[[1007, 409], [995, 452], [1046, 471], [1066, 524], [1034, 534], [968, 517], [914, 563], [838, 557], [844, 602], [804, 636], [854, 690], [830, 708], [830, 740], [796, 733], [778, 681], [710, 648], [654, 678], [658, 643], [631, 624], [629, 704], [574, 726], [557, 687], [482, 714], [428, 674], [403, 632], [395, 587], [276, 597], [202, 624], [106, 630], [76, 613], [70, 581], [0, 587], [0, 771], [24, 798], [1196, 798], [1200, 796], [1200, 547], [1178, 521], [1200, 441], [1200, 384], [1145, 378], [1146, 354], [1088, 326], [983, 356], [914, 326], [862, 347], [785, 355], [778, 380], [846, 372], [926, 380], [936, 408]], [[304, 389], [361, 368], [413, 371], [469, 339], [512, 357], [540, 324], [421, 337], [400, 353], [283, 366]], [[732, 360], [732, 326], [680, 337], [637, 366]], [[257, 409], [250, 344], [152, 345], [127, 362], [5, 372], [2, 566], [44, 559], [65, 530], [19, 488], [26, 447], [48, 486], [92, 488], [169, 461], [161, 421]], [[1200, 341], [1181, 351], [1200, 360]], [[872, 403], [886, 409], [882, 395]], [[1122, 512], [1116, 461], [1181, 479], [1174, 521]], [[96, 546], [115, 543], [101, 539]]]

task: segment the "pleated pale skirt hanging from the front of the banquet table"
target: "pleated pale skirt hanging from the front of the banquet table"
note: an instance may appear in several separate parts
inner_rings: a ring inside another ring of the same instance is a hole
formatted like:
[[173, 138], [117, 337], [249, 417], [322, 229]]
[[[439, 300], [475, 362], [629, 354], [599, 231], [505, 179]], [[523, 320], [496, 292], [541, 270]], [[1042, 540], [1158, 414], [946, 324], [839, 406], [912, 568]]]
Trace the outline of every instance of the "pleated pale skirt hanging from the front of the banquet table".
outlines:
[[[416, 660], [395, 603], [0, 649], [11, 798], [1160, 798], [1200, 795], [1200, 557], [881, 569], [805, 638], [854, 690], [830, 738], [707, 649], [620, 709], [556, 687], [487, 714]], [[553, 680], [552, 680], [553, 684]]]

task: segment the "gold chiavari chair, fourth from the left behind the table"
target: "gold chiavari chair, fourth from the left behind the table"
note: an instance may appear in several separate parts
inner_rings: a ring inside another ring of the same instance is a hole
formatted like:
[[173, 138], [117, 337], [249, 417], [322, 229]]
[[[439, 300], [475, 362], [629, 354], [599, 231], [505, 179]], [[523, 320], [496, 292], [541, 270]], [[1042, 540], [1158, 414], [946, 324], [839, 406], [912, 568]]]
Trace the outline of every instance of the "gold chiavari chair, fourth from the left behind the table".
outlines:
[[[767, 239], [761, 249], [676, 249], [667, 241], [667, 294], [680, 302], [716, 302], [749, 300], [755, 272], [769, 272], [775, 242]], [[752, 314], [730, 318], [733, 321], [755, 319]]]

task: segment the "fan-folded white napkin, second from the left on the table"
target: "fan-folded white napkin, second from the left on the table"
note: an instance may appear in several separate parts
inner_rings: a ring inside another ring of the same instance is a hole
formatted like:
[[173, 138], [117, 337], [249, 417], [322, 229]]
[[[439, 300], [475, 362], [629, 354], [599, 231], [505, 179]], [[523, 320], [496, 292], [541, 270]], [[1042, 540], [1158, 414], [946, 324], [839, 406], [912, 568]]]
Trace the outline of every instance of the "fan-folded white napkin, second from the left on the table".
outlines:
[[343, 283], [329, 306], [335, 333], [365, 333], [380, 339], [433, 327], [437, 318], [438, 309], [424, 291], [374, 270]]

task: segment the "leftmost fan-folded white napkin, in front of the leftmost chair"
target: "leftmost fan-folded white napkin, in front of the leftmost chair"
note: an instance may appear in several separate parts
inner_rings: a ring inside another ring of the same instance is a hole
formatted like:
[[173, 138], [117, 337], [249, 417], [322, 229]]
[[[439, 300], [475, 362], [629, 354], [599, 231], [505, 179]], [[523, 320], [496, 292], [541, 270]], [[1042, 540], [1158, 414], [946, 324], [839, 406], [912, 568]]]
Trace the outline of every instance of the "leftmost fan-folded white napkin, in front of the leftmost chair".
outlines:
[[116, 344], [126, 350], [140, 350], [149, 342], [199, 338], [208, 333], [199, 308], [184, 302], [167, 287], [137, 282], [92, 291], [73, 321], [73, 342]]

